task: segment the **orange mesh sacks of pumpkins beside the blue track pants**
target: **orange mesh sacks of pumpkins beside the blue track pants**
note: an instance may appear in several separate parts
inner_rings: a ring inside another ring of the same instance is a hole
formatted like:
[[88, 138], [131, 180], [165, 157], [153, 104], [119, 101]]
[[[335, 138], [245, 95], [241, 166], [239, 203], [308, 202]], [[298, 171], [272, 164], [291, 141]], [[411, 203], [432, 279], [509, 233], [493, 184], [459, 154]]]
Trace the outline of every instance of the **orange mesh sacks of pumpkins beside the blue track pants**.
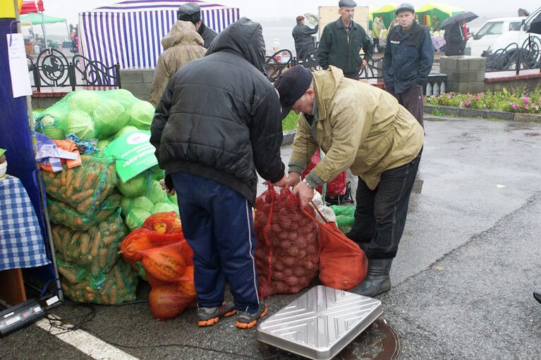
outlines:
[[175, 318], [197, 294], [193, 251], [184, 239], [178, 215], [156, 213], [123, 240], [121, 252], [133, 268], [142, 266], [152, 290], [149, 306], [159, 320]]

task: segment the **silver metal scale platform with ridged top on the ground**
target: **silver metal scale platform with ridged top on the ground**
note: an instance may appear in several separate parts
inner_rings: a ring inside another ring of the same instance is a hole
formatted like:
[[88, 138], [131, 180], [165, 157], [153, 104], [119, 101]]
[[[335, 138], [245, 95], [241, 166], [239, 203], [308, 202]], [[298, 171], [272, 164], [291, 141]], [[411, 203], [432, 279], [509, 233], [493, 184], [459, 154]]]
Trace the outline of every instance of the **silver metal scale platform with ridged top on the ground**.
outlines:
[[382, 313], [378, 299], [318, 285], [262, 321], [256, 337], [294, 354], [327, 360]]

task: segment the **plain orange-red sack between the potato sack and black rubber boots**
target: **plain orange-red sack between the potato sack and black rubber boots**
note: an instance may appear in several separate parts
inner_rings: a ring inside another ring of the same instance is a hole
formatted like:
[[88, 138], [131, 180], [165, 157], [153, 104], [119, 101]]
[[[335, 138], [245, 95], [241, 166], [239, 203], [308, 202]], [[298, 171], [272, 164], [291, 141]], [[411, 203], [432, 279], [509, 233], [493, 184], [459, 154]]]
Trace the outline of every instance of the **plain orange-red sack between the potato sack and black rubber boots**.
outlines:
[[[314, 206], [316, 211], [317, 206]], [[349, 290], [363, 281], [368, 272], [365, 252], [336, 228], [335, 223], [317, 221], [315, 216], [306, 215], [319, 225], [320, 235], [320, 281], [323, 285], [338, 290]], [[320, 213], [322, 216], [322, 213]]]

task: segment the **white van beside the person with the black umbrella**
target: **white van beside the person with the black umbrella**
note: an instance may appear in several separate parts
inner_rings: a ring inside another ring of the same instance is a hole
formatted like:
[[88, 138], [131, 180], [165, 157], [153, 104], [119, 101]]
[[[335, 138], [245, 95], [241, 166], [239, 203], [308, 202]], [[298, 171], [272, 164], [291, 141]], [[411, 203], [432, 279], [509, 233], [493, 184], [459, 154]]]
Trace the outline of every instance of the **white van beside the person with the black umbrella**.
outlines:
[[525, 18], [496, 18], [487, 20], [466, 42], [465, 55], [482, 56], [500, 36], [513, 32], [518, 35]]

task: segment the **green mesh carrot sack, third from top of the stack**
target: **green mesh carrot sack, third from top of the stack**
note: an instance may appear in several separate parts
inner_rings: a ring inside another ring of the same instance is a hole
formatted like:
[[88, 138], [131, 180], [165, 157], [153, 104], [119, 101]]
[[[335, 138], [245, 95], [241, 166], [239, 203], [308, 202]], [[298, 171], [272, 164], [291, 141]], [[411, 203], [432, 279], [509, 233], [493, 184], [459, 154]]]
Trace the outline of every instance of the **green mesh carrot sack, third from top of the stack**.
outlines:
[[74, 231], [63, 225], [53, 225], [56, 252], [70, 263], [84, 266], [93, 277], [108, 273], [119, 257], [120, 242], [127, 235], [119, 213], [87, 231]]

